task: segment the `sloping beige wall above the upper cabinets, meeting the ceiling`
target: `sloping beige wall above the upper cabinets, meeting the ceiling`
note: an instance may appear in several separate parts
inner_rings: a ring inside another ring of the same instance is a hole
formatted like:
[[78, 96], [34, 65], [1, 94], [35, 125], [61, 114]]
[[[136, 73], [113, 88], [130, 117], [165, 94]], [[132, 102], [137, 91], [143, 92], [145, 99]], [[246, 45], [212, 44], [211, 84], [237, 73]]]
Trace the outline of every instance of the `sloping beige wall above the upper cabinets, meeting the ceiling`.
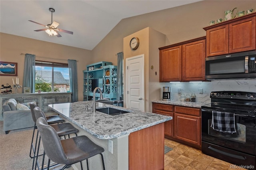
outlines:
[[116, 53], [124, 50], [123, 38], [147, 27], [165, 34], [165, 45], [206, 36], [203, 28], [208, 26], [208, 22], [224, 19], [224, 11], [235, 7], [239, 11], [256, 9], [256, 3], [255, 0], [204, 0], [125, 18], [93, 49], [94, 61], [98, 62], [107, 57], [108, 61], [116, 65]]

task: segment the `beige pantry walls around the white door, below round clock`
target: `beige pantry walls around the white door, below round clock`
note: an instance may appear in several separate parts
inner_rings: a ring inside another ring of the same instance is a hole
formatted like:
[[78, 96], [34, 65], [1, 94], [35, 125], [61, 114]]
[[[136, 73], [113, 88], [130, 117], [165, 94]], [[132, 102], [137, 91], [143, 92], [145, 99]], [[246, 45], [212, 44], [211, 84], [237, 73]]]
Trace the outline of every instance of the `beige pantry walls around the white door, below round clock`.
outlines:
[[[133, 37], [138, 37], [140, 45], [135, 51], [130, 49], [130, 40]], [[151, 101], [159, 99], [159, 45], [165, 44], [165, 35], [153, 30], [152, 28], [144, 28], [134, 34], [124, 38], [124, 65], [126, 59], [137, 55], [144, 54], [144, 102], [145, 111], [152, 111]], [[153, 69], [151, 69], [151, 65]], [[156, 72], [156, 74], [155, 74]], [[126, 69], [124, 69], [124, 79], [126, 79]], [[126, 84], [124, 84], [126, 89]], [[127, 89], [126, 89], [127, 91]], [[124, 91], [124, 99], [126, 99], [126, 91]], [[124, 103], [126, 106], [126, 103]]]

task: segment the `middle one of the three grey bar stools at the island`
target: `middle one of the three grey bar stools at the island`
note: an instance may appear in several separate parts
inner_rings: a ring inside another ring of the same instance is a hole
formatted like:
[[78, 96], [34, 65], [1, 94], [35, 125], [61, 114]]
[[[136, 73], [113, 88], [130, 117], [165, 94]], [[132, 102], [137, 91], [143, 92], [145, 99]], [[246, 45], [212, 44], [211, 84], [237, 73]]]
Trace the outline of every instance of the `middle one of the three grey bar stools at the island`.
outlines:
[[[39, 107], [34, 108], [34, 116], [35, 116], [36, 120], [40, 117], [44, 118], [44, 120], [47, 119], [44, 112], [41, 111]], [[76, 136], [77, 136], [78, 129], [73, 127], [70, 123], [54, 124], [54, 125], [50, 125], [50, 126], [52, 126], [56, 130], [59, 137], [64, 136], [64, 138], [66, 138], [66, 135], [68, 135], [68, 137], [70, 138], [70, 134], [76, 134]], [[38, 169], [39, 169], [39, 164], [38, 164], [37, 160], [38, 160], [38, 156], [39, 156], [38, 155], [39, 147], [40, 147], [40, 137], [39, 137], [39, 141], [38, 141], [37, 154], [35, 156], [36, 157], [36, 164], [38, 166]], [[44, 156], [45, 156], [45, 153], [43, 153], [42, 166], [44, 165]], [[33, 169], [33, 167], [34, 167], [34, 160], [33, 160], [32, 169]], [[36, 166], [35, 166], [35, 169], [36, 169]]]

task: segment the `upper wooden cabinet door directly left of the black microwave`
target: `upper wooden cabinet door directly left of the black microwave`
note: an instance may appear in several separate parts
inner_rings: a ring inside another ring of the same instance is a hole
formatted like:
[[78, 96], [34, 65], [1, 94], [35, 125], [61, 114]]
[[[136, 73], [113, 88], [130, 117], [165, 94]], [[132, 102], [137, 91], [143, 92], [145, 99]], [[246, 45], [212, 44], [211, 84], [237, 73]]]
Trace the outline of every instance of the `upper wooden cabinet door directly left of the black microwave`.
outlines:
[[182, 81], [205, 80], [205, 40], [182, 45]]

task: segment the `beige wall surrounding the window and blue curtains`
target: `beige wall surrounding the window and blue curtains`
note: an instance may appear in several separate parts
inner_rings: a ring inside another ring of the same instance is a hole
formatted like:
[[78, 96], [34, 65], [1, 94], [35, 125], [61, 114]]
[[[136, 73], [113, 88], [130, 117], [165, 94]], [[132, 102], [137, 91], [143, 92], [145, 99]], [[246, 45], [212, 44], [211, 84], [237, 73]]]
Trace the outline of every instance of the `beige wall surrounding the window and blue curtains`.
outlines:
[[[0, 33], [0, 42], [0, 61], [18, 63], [18, 78], [20, 85], [23, 83], [22, 79], [25, 59], [24, 55], [20, 55], [20, 53], [30, 53], [35, 54], [36, 56], [56, 58], [44, 59], [36, 57], [37, 60], [42, 61], [68, 63], [68, 59], [78, 60], [78, 100], [83, 100], [82, 70], [86, 69], [86, 65], [92, 63], [92, 51], [4, 33]], [[66, 61], [58, 59], [65, 59]], [[6, 83], [12, 85], [12, 78], [16, 79], [16, 76], [0, 76], [0, 85], [5, 85]], [[19, 90], [19, 93], [22, 93], [21, 89]]]

